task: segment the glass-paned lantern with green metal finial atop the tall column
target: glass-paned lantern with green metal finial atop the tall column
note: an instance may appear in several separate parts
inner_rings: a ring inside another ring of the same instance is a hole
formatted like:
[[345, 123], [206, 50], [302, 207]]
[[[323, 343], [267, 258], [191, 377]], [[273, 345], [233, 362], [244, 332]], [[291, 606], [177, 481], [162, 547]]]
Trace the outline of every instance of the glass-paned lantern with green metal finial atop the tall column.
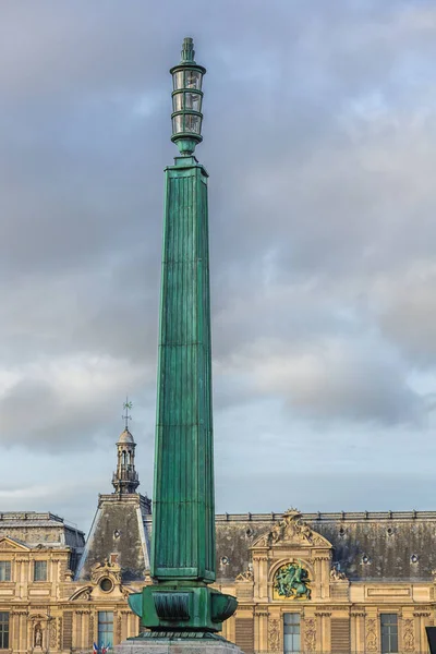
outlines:
[[174, 65], [172, 75], [172, 136], [182, 156], [191, 156], [202, 136], [203, 75], [206, 69], [195, 62], [194, 41], [183, 40], [180, 63]]

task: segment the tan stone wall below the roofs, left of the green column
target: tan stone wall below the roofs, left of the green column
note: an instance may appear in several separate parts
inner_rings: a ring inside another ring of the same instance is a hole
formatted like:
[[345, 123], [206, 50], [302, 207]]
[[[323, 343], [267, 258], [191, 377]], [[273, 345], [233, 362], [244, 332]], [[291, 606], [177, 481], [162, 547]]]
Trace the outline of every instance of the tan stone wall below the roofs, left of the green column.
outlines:
[[[120, 567], [110, 561], [98, 566], [84, 585], [73, 581], [70, 559], [69, 547], [29, 548], [0, 540], [0, 562], [11, 564], [10, 581], [0, 581], [0, 613], [9, 616], [5, 651], [89, 652], [98, 640], [99, 611], [113, 614], [113, 644], [137, 635], [138, 618], [126, 603], [135, 589], [121, 584]], [[35, 561], [46, 562], [46, 580], [35, 581]], [[104, 580], [110, 582], [109, 590], [102, 590]]]

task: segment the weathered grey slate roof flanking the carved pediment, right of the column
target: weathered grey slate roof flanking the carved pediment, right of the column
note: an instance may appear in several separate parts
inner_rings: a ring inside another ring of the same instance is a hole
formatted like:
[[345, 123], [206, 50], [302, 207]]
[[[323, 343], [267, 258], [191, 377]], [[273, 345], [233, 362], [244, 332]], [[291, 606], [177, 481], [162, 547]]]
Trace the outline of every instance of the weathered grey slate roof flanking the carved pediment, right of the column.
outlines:
[[[230, 581], [246, 570], [254, 541], [282, 517], [217, 516], [217, 578]], [[433, 579], [436, 511], [303, 513], [302, 519], [331, 543], [334, 562], [352, 581]]]

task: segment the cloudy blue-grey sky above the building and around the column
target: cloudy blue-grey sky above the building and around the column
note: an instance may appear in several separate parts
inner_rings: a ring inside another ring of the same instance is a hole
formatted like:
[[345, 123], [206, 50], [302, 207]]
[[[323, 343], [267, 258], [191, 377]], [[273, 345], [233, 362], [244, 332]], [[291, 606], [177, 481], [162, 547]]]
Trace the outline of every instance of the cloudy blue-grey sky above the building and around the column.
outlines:
[[436, 509], [431, 0], [2, 0], [0, 511], [153, 488], [162, 169], [208, 72], [217, 510]]

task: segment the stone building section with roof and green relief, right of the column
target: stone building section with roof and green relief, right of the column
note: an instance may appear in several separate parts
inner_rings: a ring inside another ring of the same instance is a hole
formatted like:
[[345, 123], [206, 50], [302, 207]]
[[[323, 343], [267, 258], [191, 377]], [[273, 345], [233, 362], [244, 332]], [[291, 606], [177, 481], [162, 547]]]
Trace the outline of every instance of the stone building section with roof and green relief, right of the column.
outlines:
[[217, 516], [217, 584], [244, 652], [428, 652], [436, 512]]

